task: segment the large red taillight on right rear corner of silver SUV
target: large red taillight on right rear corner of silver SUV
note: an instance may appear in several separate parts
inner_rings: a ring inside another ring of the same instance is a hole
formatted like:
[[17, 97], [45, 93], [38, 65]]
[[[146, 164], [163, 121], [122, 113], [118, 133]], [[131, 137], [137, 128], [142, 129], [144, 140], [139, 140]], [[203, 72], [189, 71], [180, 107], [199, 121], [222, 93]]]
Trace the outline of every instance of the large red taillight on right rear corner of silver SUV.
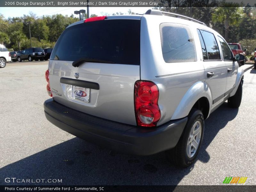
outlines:
[[137, 125], [154, 127], [161, 117], [158, 106], [159, 91], [151, 81], [136, 81], [134, 85], [134, 108]]

